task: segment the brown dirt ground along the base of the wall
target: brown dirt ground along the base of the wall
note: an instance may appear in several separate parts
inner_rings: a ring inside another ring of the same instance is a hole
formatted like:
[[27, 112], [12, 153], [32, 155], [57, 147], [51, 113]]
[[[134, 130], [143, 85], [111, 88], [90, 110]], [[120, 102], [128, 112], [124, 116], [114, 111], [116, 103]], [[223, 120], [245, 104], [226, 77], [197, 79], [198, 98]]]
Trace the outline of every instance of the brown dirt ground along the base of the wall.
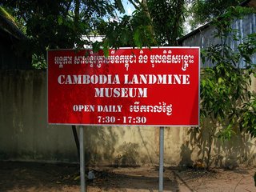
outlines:
[[[0, 162], [0, 192], [80, 191], [78, 165]], [[164, 191], [256, 191], [255, 167], [234, 170], [165, 167]], [[88, 192], [158, 191], [158, 167], [94, 168]]]

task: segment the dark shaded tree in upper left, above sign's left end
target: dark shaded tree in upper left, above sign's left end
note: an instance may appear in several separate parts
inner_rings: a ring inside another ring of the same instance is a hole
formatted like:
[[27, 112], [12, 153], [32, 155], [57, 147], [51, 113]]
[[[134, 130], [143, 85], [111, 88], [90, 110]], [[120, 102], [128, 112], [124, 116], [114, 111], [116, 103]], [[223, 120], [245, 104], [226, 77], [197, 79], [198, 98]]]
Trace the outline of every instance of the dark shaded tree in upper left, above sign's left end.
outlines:
[[0, 6], [11, 10], [22, 21], [34, 58], [43, 62], [47, 49], [74, 48], [86, 44], [82, 35], [92, 34], [98, 19], [115, 17], [115, 10], [124, 11], [121, 0], [3, 0]]

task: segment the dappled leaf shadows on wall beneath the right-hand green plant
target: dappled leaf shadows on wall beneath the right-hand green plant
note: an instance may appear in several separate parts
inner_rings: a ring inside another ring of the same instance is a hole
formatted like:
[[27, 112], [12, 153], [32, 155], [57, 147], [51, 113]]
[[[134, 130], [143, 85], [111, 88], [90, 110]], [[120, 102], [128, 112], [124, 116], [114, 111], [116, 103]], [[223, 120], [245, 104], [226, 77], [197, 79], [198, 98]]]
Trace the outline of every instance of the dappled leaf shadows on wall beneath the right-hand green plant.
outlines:
[[251, 153], [255, 151], [253, 143], [249, 134], [239, 132], [230, 138], [230, 140], [222, 141], [218, 138], [219, 128], [213, 123], [207, 122], [205, 126], [200, 128], [191, 128], [188, 131], [190, 135], [190, 147], [188, 144], [182, 145], [182, 159], [186, 162], [190, 162], [191, 158], [186, 157], [189, 152], [184, 153], [187, 150], [198, 151], [196, 161], [201, 162], [203, 167], [225, 167], [233, 169], [238, 166], [239, 163], [252, 163], [255, 160], [255, 154]]

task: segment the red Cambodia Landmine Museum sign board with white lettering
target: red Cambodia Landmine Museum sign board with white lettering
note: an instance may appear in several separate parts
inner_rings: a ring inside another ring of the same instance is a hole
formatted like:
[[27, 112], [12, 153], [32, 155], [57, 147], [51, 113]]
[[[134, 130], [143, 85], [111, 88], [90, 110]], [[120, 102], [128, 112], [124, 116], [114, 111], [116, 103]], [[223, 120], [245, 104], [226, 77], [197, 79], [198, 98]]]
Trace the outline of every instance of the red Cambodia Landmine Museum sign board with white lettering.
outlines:
[[48, 122], [198, 126], [199, 48], [48, 51]]

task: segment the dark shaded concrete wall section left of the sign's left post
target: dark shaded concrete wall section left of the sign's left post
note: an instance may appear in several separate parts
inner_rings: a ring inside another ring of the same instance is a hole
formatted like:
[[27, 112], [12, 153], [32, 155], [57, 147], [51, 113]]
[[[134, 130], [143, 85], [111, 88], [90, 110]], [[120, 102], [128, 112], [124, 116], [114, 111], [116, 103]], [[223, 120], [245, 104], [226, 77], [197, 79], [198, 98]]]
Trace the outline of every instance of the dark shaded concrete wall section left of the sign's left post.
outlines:
[[75, 161], [70, 127], [46, 123], [46, 72], [5, 71], [0, 83], [0, 158]]

